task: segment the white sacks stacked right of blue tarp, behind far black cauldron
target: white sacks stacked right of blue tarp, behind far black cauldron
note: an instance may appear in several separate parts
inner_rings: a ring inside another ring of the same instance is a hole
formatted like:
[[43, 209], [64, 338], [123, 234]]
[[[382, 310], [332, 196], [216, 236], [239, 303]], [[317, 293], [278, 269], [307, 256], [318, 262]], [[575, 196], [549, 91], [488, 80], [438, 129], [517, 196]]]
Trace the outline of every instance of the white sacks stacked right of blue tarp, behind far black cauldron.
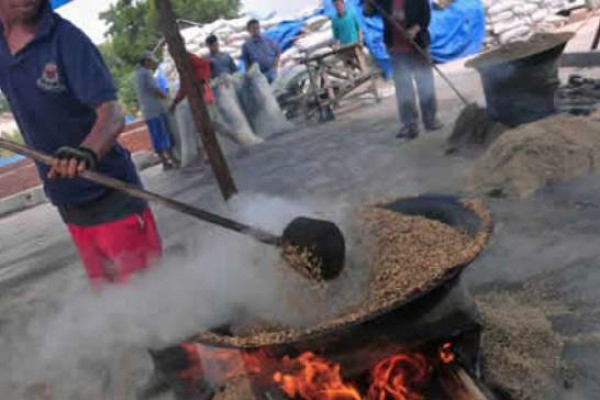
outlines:
[[562, 0], [484, 0], [486, 47], [529, 40], [533, 34], [547, 32], [556, 22]]

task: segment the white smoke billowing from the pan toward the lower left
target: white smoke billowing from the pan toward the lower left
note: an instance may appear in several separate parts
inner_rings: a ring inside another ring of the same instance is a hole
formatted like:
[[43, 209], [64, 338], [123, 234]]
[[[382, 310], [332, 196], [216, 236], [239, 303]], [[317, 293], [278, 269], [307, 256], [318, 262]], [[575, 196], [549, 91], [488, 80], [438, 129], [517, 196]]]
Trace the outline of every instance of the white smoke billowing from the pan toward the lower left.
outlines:
[[[273, 233], [295, 216], [316, 215], [310, 207], [263, 196], [238, 197], [227, 207], [224, 213]], [[127, 285], [65, 294], [55, 312], [29, 323], [25, 334], [3, 337], [0, 348], [10, 346], [12, 356], [3, 360], [2, 388], [43, 383], [34, 392], [47, 384], [52, 399], [74, 393], [131, 398], [131, 387], [149, 375], [148, 348], [175, 344], [240, 313], [304, 326], [323, 306], [307, 295], [310, 284], [281, 264], [277, 248], [204, 224], [201, 232], [190, 232], [186, 245], [191, 256], [169, 257]]]

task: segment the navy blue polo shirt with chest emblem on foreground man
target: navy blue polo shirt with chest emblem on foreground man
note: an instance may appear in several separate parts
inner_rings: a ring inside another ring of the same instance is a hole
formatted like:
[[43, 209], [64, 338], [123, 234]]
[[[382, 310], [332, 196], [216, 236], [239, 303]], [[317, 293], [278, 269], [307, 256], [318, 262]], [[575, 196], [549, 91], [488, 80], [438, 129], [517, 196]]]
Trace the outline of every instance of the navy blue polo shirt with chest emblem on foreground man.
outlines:
[[[0, 24], [0, 89], [7, 97], [25, 142], [53, 154], [61, 146], [79, 146], [96, 121], [95, 109], [116, 100], [116, 89], [97, 47], [73, 24], [46, 4], [35, 38], [12, 55]], [[44, 190], [56, 206], [84, 204], [106, 190], [84, 179], [46, 179]], [[130, 154], [113, 146], [98, 172], [139, 185]]]

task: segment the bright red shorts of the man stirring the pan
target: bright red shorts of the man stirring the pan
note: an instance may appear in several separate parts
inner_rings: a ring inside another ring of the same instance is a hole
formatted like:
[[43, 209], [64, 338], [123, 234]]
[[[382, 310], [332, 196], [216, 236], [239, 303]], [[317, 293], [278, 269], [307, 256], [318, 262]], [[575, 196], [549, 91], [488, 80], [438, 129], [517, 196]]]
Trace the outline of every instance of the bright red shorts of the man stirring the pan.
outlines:
[[93, 227], [67, 225], [92, 286], [126, 282], [161, 257], [160, 235], [152, 211]]

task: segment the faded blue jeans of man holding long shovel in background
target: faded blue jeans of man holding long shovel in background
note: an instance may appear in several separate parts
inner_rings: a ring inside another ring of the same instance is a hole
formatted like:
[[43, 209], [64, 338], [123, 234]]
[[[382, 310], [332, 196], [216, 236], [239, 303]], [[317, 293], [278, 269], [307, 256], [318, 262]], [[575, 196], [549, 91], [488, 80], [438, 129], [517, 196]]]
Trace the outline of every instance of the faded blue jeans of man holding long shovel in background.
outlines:
[[[400, 121], [405, 127], [418, 124], [419, 112], [416, 98], [418, 93], [423, 123], [425, 126], [433, 124], [437, 113], [433, 69], [418, 53], [391, 53], [390, 59], [394, 68]], [[416, 93], [413, 80], [416, 83]]]

